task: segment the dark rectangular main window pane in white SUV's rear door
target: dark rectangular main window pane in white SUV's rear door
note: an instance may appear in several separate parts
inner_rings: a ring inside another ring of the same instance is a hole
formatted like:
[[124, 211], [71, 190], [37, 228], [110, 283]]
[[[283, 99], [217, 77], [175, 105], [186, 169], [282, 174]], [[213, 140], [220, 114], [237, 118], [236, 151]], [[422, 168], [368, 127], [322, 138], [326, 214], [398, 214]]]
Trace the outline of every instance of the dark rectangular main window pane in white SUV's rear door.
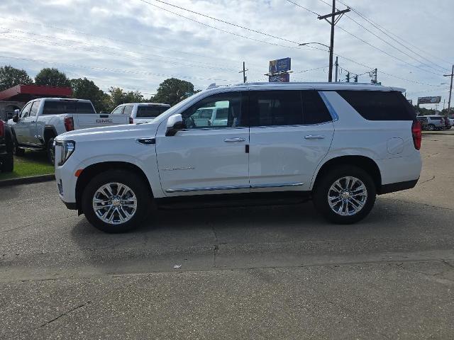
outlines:
[[301, 125], [301, 91], [250, 91], [250, 126]]

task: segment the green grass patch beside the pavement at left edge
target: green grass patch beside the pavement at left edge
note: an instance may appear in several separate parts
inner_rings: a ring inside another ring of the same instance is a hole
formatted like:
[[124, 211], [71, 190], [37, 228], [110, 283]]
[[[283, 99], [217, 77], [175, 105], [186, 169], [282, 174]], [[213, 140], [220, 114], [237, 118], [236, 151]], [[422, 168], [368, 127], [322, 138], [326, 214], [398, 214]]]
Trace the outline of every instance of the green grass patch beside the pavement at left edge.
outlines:
[[48, 175], [53, 174], [54, 171], [54, 166], [48, 162], [45, 152], [26, 151], [23, 157], [14, 156], [14, 171], [1, 172], [0, 181], [2, 179]]

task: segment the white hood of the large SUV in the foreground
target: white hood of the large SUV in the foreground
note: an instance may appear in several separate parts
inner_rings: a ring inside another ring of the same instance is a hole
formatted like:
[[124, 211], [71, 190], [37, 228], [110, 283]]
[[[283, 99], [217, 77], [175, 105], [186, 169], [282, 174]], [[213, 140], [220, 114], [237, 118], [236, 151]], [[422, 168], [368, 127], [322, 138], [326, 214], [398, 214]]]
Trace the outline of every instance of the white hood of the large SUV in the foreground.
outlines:
[[62, 142], [63, 140], [74, 141], [96, 141], [96, 140], [118, 140], [120, 138], [134, 137], [155, 137], [157, 124], [128, 124], [128, 125], [111, 125], [102, 128], [89, 128], [82, 130], [74, 130], [58, 135], [55, 140]]

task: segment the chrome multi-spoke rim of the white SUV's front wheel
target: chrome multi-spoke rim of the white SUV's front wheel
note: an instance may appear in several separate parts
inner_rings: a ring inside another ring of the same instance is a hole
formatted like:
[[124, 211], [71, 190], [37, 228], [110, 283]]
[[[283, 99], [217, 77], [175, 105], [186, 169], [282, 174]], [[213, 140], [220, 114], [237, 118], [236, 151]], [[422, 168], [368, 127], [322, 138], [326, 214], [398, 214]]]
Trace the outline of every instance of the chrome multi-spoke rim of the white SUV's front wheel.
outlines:
[[137, 198], [128, 186], [107, 183], [94, 193], [93, 210], [99, 220], [118, 225], [128, 222], [135, 215]]

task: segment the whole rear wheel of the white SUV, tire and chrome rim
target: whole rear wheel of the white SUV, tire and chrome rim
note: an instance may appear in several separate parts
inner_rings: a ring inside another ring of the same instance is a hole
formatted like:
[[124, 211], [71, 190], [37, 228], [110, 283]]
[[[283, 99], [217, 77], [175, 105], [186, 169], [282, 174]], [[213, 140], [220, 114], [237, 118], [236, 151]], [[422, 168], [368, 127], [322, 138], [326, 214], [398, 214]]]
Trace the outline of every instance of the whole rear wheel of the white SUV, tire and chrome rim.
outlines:
[[314, 205], [327, 220], [347, 225], [366, 217], [375, 197], [375, 183], [366, 171], [357, 166], [339, 166], [316, 183]]

